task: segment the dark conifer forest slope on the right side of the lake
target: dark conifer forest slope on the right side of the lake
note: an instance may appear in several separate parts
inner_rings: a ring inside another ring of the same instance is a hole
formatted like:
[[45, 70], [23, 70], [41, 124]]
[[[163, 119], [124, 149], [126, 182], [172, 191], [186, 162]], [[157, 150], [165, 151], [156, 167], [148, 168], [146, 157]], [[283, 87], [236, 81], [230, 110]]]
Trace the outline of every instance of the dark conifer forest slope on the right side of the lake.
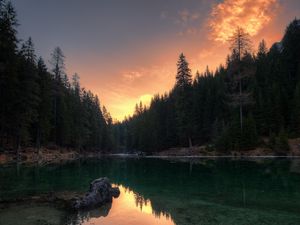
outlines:
[[257, 146], [288, 151], [288, 138], [300, 136], [300, 21], [292, 21], [270, 49], [262, 40], [254, 53], [240, 28], [229, 44], [226, 64], [197, 72], [194, 79], [181, 54], [173, 89], [155, 95], [149, 107], [137, 104], [133, 116], [113, 126], [117, 149], [206, 145], [223, 152]]

